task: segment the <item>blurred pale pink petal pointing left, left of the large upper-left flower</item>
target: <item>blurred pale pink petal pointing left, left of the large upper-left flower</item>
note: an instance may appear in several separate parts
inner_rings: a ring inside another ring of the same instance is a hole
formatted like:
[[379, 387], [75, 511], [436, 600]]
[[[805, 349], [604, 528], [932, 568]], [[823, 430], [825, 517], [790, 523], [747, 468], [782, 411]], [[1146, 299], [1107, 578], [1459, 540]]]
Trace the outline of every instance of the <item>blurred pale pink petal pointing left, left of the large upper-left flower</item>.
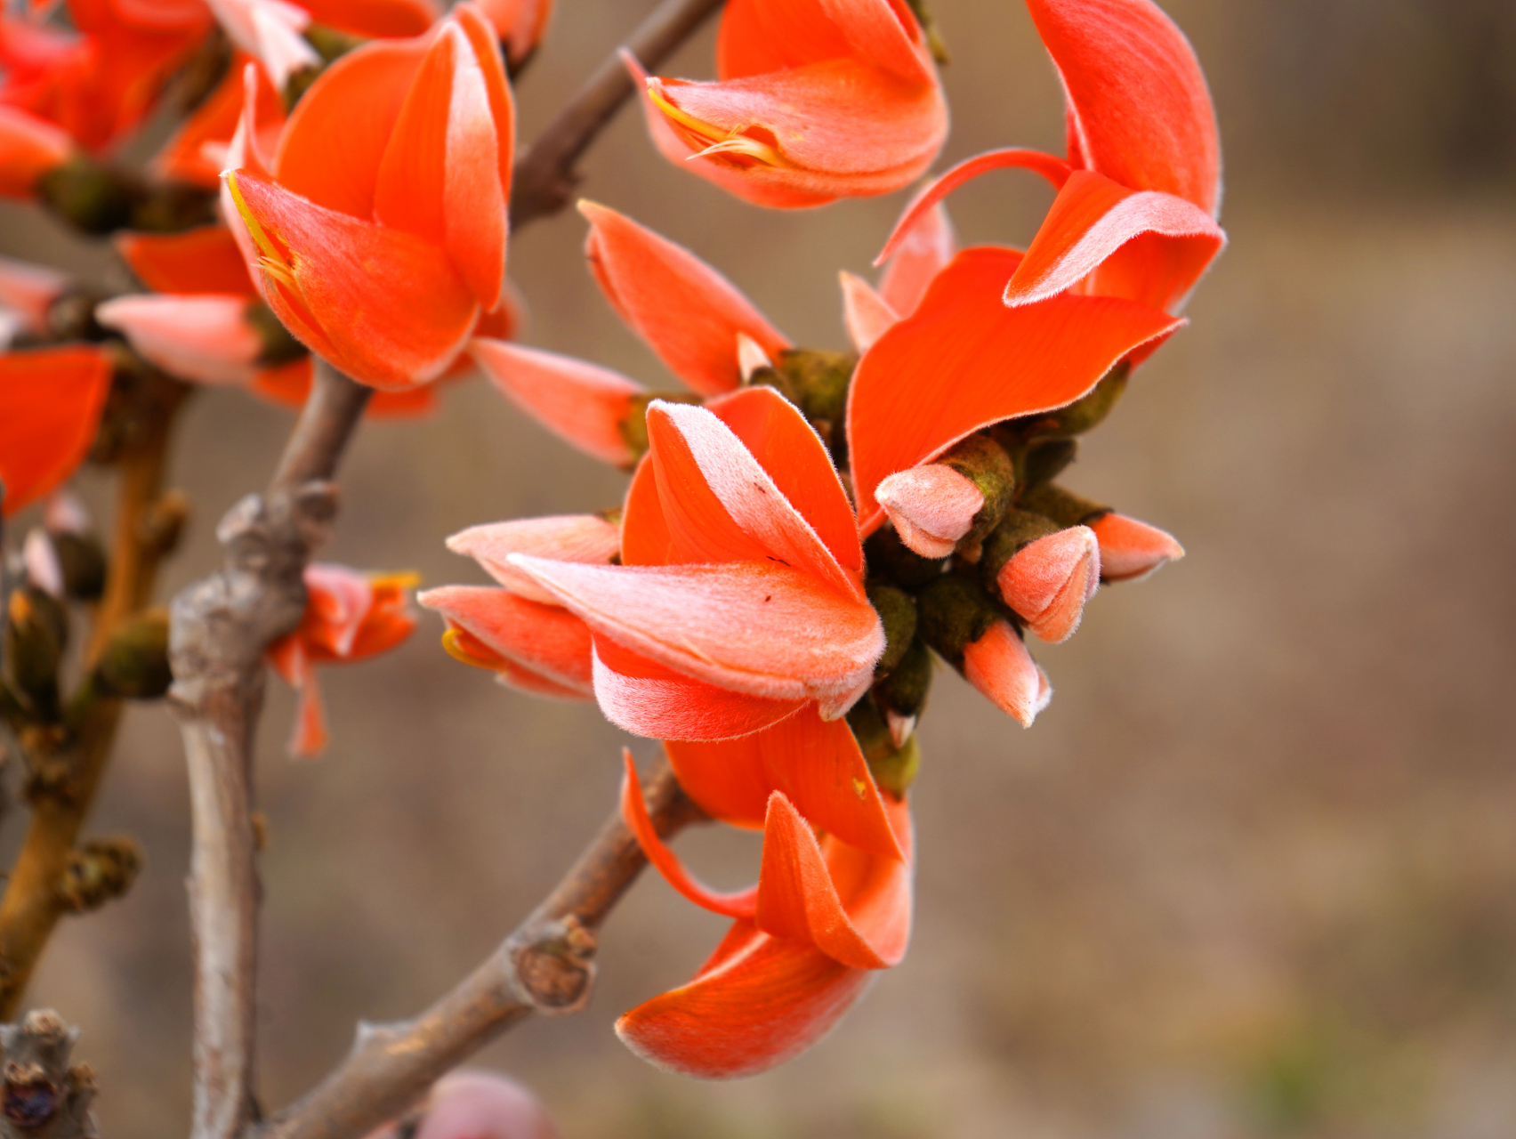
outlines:
[[264, 340], [247, 322], [246, 296], [132, 294], [96, 306], [96, 320], [124, 334], [149, 362], [197, 384], [246, 384]]

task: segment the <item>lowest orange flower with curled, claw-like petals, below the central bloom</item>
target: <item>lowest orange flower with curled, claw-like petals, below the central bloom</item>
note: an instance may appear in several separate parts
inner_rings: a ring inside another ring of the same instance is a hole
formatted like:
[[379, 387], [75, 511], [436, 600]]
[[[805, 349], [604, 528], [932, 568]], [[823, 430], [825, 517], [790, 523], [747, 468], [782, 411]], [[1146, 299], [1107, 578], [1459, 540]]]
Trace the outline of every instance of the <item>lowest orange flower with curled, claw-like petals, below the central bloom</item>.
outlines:
[[647, 817], [626, 757], [622, 813], [669, 883], [737, 921], [694, 978], [622, 1016], [615, 1031], [644, 1060], [706, 1080], [753, 1075], [816, 1043], [863, 996], [872, 971], [897, 965], [911, 933], [911, 819], [885, 799], [899, 855], [825, 834], [782, 792], [764, 817], [758, 886], [720, 895], [694, 881]]

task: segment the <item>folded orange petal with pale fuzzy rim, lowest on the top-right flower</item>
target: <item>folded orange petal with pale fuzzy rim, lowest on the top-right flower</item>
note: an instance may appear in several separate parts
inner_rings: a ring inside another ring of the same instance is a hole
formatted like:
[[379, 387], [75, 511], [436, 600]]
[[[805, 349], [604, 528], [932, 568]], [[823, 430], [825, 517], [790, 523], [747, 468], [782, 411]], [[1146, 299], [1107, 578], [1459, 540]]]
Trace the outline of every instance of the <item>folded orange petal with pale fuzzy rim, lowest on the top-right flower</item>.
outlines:
[[1076, 170], [1005, 287], [1005, 303], [1029, 305], [1093, 273], [1088, 293], [1172, 311], [1225, 244], [1195, 203]]

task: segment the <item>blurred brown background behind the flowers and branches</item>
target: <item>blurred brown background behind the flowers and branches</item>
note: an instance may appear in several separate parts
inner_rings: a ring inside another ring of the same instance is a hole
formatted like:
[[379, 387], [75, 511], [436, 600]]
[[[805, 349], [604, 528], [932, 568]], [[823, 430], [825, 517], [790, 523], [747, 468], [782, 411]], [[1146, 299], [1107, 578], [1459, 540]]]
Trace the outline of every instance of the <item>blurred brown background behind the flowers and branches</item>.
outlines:
[[[650, 5], [561, 0], [518, 86], [532, 138]], [[1014, 0], [934, 0], [952, 49], [941, 164], [1061, 153], [1060, 93]], [[920, 869], [904, 965], [820, 1046], [731, 1084], [664, 1075], [614, 1018], [684, 981], [723, 922], [653, 877], [605, 928], [575, 1018], [479, 1059], [570, 1139], [1508, 1139], [1516, 1134], [1516, 6], [1169, 0], [1210, 76], [1231, 247], [1193, 326], [1139, 373], [1064, 482], [1189, 557], [1102, 590], [1038, 652], [1022, 731], [951, 672], [923, 720]], [[664, 68], [703, 77], [711, 29]], [[691, 246], [796, 341], [843, 347], [838, 268], [867, 273], [901, 197], [770, 214], [656, 158], [623, 112], [584, 193]], [[1025, 244], [1029, 176], [952, 199], [966, 241]], [[528, 343], [672, 387], [584, 270], [572, 211], [512, 243]], [[0, 253], [108, 273], [36, 214]], [[202, 394], [194, 497], [164, 596], [217, 564], [215, 519], [262, 484], [290, 417]], [[482, 382], [367, 426], [323, 557], [479, 581], [444, 535], [617, 502], [623, 476]], [[86, 473], [91, 502], [106, 485]], [[485, 955], [614, 802], [623, 737], [593, 705], [509, 693], [438, 623], [327, 669], [335, 743], [283, 757], [270, 681], [259, 796], [262, 1090], [303, 1092], [359, 1019], [408, 1016]], [[647, 742], [632, 742], [640, 758]], [[5, 857], [21, 817], [0, 830]], [[135, 708], [92, 833], [147, 849], [132, 893], [65, 921], [30, 999], [83, 1027], [108, 1136], [190, 1109], [188, 811], [177, 733]], [[679, 840], [709, 880], [756, 840]]]

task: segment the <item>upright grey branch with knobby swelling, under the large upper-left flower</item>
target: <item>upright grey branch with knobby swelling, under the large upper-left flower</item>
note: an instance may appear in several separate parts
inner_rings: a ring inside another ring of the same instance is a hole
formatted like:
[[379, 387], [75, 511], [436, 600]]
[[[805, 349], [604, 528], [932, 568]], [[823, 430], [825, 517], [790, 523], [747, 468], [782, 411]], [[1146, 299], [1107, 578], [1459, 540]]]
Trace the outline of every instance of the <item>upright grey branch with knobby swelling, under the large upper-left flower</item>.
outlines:
[[190, 764], [196, 942], [194, 1136], [230, 1139], [253, 1115], [258, 871], [253, 737], [264, 651], [305, 614], [303, 572], [337, 513], [337, 472], [371, 388], [326, 364], [259, 497], [221, 520], [226, 566], [174, 598], [170, 702]]

